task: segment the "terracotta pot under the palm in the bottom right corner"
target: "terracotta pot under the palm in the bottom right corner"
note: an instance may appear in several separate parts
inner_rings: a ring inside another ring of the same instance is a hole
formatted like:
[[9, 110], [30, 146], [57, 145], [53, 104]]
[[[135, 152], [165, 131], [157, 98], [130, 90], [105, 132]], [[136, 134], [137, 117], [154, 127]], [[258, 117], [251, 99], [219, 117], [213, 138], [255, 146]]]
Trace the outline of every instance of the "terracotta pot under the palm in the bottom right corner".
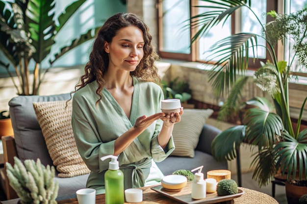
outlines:
[[299, 204], [299, 199], [307, 194], [307, 186], [298, 186], [285, 182], [286, 197], [288, 204]]

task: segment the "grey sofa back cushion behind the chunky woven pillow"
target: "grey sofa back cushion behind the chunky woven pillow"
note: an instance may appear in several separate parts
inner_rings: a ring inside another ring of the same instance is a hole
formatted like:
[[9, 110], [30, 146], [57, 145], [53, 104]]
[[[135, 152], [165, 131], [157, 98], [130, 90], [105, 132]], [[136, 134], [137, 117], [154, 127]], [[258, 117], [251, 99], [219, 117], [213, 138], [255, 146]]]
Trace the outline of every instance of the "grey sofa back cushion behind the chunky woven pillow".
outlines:
[[70, 94], [65, 93], [48, 96], [20, 95], [9, 101], [9, 112], [19, 159], [24, 161], [39, 158], [45, 166], [52, 165], [42, 130], [34, 112], [33, 102], [68, 99], [70, 99]]

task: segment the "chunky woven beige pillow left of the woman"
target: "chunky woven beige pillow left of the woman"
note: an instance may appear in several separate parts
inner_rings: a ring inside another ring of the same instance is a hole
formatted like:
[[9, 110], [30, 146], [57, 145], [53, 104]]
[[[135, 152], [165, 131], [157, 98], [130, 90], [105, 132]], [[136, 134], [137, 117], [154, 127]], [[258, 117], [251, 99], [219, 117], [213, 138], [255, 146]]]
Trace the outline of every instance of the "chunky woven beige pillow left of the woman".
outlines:
[[72, 103], [67, 105], [66, 101], [33, 103], [48, 152], [61, 178], [90, 172], [77, 150], [71, 124]]

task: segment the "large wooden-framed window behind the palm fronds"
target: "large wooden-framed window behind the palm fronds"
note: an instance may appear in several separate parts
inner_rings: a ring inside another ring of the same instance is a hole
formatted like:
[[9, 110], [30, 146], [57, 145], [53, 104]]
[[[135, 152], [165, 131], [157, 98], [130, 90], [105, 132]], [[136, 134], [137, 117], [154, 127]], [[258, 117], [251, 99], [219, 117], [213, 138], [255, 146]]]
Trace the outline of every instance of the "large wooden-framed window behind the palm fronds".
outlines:
[[[284, 5], [282, 6], [278, 4], [283, 2]], [[162, 58], [205, 62], [210, 55], [208, 52], [210, 46], [230, 36], [230, 34], [252, 32], [262, 35], [262, 28], [257, 22], [258, 20], [249, 13], [250, 11], [247, 8], [243, 7], [240, 12], [236, 12], [228, 21], [224, 22], [223, 26], [216, 26], [211, 29], [205, 37], [201, 37], [190, 46], [189, 40], [196, 31], [188, 27], [189, 23], [186, 20], [203, 13], [204, 8], [197, 7], [197, 5], [204, 4], [205, 2], [202, 0], [159, 0], [159, 54]], [[265, 25], [266, 22], [271, 21], [271, 17], [265, 15], [266, 12], [275, 10], [281, 13], [281, 7], [284, 8], [285, 13], [294, 12], [306, 7], [307, 0], [254, 0], [251, 6], [259, 21]], [[172, 25], [171, 28], [167, 29], [170, 24]], [[269, 58], [265, 48], [266, 41], [258, 39], [257, 43], [262, 45], [257, 50], [256, 57], [258, 60], [254, 62], [253, 59], [250, 59], [249, 68], [260, 67], [259, 61], [265, 62]], [[289, 53], [291, 53], [291, 46], [284, 46], [284, 51], [280, 54], [282, 56]], [[252, 57], [251, 50], [249, 54]], [[299, 65], [295, 67], [302, 70]], [[307, 72], [306, 69], [305, 72]]]

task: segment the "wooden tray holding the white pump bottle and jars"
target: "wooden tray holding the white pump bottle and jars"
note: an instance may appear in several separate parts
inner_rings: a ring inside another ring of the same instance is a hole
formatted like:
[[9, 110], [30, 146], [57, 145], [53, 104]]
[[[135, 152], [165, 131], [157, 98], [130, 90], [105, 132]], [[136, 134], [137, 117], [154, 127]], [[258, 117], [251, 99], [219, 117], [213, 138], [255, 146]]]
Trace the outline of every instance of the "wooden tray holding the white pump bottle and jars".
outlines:
[[237, 194], [218, 196], [216, 192], [207, 193], [204, 199], [195, 200], [191, 198], [192, 182], [188, 182], [179, 192], [167, 191], [162, 185], [153, 186], [151, 189], [183, 204], [215, 204], [224, 201], [231, 201], [232, 199], [244, 194], [244, 191], [238, 188]]

